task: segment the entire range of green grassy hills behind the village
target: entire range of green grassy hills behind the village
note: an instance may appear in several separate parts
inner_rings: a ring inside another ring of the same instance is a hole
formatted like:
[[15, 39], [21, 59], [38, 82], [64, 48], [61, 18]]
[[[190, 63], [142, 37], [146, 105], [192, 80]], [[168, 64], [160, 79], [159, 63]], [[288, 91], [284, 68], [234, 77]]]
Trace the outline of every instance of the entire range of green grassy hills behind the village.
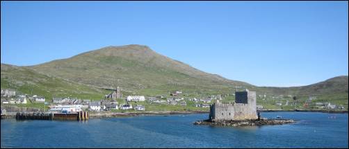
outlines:
[[[238, 70], [236, 70], [238, 71]], [[332, 101], [348, 107], [348, 76], [330, 78], [302, 87], [257, 87], [247, 82], [228, 80], [205, 73], [188, 64], [160, 55], [147, 46], [108, 46], [30, 67], [1, 64], [1, 88], [13, 88], [25, 94], [73, 96], [100, 99], [108, 91], [102, 88], [121, 87], [124, 95], [168, 95], [181, 90], [186, 97], [206, 97], [210, 94], [233, 94], [245, 88], [266, 94], [257, 102], [275, 107], [273, 96], [287, 95], [305, 101], [318, 96], [318, 101]], [[234, 100], [230, 96], [229, 100]], [[280, 99], [281, 100], [281, 99]]]

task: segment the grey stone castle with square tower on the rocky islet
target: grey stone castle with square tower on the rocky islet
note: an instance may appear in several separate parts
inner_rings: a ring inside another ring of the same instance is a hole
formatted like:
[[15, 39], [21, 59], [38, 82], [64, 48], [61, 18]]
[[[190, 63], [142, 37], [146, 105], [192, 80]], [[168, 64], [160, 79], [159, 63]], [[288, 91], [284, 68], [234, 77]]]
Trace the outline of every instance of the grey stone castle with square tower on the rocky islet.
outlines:
[[258, 119], [256, 91], [236, 91], [235, 103], [214, 103], [210, 106], [211, 121], [240, 121]]

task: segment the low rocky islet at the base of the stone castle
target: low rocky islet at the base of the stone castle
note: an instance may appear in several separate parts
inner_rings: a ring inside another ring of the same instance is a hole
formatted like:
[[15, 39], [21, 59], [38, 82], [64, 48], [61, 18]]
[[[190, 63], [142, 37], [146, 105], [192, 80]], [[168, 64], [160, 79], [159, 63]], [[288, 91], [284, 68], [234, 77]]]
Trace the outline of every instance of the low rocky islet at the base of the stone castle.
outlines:
[[244, 120], [244, 121], [195, 121], [194, 125], [211, 125], [211, 126], [261, 126], [261, 125], [283, 125], [288, 123], [295, 123], [293, 119], [266, 119], [261, 120]]

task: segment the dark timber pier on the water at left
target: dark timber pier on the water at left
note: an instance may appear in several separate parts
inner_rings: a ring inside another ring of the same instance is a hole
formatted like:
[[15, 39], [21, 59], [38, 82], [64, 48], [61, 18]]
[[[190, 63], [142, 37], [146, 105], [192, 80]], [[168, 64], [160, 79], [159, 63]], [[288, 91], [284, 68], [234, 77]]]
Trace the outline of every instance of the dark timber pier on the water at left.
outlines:
[[85, 121], [85, 120], [88, 120], [88, 112], [51, 113], [51, 114], [17, 113], [16, 119], [17, 120]]

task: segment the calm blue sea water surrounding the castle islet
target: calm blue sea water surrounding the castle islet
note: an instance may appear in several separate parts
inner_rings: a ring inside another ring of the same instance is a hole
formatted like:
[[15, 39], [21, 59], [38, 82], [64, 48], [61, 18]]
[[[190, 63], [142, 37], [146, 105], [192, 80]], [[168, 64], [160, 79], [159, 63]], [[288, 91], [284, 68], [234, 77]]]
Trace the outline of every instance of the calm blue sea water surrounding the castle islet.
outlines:
[[1, 148], [348, 148], [348, 114], [263, 112], [288, 125], [193, 125], [208, 114], [79, 121], [1, 120]]

